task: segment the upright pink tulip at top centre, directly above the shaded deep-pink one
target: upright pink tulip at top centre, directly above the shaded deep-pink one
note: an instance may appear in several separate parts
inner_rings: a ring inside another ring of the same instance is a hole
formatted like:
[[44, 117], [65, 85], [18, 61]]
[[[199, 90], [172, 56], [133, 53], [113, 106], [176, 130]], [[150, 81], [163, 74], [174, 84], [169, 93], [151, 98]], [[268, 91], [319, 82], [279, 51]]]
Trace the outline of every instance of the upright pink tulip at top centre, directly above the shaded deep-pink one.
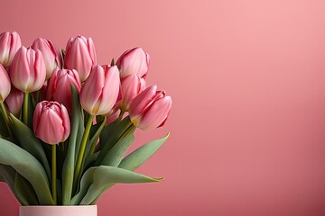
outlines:
[[86, 39], [83, 36], [70, 38], [67, 43], [64, 64], [68, 69], [76, 69], [81, 82], [84, 82], [91, 69], [97, 64], [93, 40], [91, 38]]

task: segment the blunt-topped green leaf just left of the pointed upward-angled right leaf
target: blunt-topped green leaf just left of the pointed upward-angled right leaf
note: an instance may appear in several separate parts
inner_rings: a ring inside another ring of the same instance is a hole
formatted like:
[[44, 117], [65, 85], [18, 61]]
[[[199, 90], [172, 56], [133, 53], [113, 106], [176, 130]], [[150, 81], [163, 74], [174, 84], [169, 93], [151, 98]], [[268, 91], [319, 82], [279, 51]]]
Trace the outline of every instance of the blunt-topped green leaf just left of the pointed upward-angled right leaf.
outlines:
[[116, 145], [107, 152], [107, 155], [106, 157], [104, 157], [101, 165], [118, 166], [121, 163], [123, 157], [125, 156], [126, 150], [134, 141], [135, 136], [133, 134], [129, 134], [124, 138], [119, 139], [116, 142]]

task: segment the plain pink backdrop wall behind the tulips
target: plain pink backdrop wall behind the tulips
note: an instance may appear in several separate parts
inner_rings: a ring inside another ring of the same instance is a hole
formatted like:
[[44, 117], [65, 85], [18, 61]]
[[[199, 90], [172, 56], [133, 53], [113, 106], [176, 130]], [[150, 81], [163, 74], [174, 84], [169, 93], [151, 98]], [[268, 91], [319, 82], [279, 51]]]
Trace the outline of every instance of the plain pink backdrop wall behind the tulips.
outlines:
[[[4, 1], [1, 31], [25, 46], [91, 36], [98, 62], [135, 46], [149, 84], [172, 94], [172, 132], [138, 171], [159, 184], [119, 184], [104, 215], [325, 215], [325, 2]], [[135, 148], [134, 147], [134, 148]], [[0, 185], [0, 214], [18, 203]]]

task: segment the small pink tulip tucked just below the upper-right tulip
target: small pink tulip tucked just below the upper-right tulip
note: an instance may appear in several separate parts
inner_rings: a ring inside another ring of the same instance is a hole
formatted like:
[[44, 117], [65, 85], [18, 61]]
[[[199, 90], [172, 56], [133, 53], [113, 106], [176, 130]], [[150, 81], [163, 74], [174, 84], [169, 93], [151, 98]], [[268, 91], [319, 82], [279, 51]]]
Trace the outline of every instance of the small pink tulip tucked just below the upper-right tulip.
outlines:
[[139, 78], [137, 75], [126, 76], [121, 81], [121, 95], [122, 101], [120, 103], [121, 109], [128, 111], [130, 103], [137, 94], [140, 94], [145, 88], [144, 78]]

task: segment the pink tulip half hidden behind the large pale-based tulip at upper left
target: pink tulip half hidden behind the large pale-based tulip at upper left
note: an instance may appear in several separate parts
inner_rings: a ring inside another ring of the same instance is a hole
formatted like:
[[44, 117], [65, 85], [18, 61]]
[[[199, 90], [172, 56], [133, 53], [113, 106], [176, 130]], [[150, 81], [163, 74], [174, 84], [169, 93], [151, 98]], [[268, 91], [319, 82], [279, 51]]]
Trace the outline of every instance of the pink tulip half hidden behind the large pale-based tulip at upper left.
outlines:
[[62, 55], [51, 40], [38, 38], [33, 41], [32, 49], [40, 49], [46, 67], [46, 79], [50, 78], [53, 69], [62, 68]]

